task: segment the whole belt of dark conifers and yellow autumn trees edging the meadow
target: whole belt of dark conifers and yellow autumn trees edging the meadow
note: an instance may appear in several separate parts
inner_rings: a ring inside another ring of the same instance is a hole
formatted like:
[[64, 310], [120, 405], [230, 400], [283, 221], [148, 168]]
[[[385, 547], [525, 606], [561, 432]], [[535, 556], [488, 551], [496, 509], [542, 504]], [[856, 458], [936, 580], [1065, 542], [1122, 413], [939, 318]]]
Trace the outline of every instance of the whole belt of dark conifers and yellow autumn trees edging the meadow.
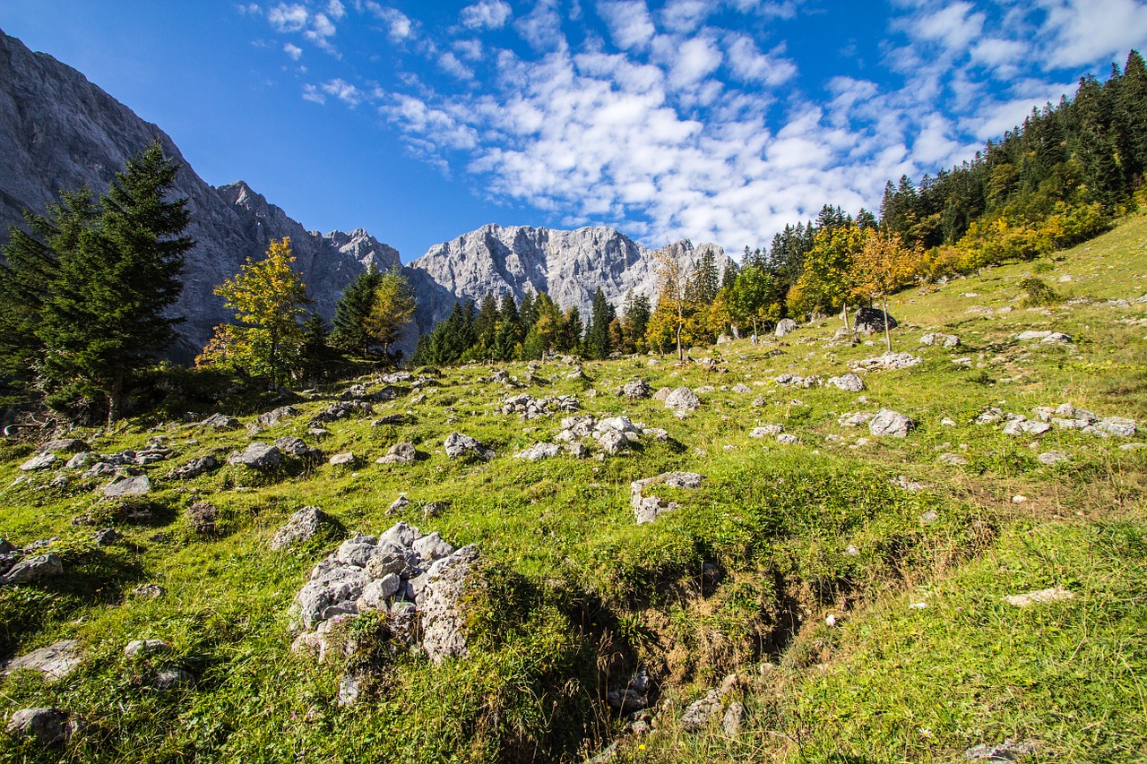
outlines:
[[[128, 388], [174, 338], [166, 314], [181, 288], [186, 200], [167, 201], [178, 166], [153, 145], [99, 198], [64, 192], [44, 216], [11, 228], [0, 264], [0, 395], [115, 421]], [[919, 184], [888, 182], [880, 217], [825, 204], [786, 226], [740, 264], [702, 251], [685, 272], [657, 254], [656, 302], [629, 294], [621, 310], [601, 289], [591, 314], [544, 293], [455, 304], [423, 335], [414, 364], [508, 361], [578, 353], [665, 352], [749, 334], [782, 318], [883, 303], [908, 284], [1032, 260], [1090, 239], [1147, 202], [1147, 70], [1132, 50], [1103, 83], [1047, 103], [976, 156]], [[313, 384], [400, 360], [395, 344], [415, 303], [400, 273], [370, 270], [343, 295], [334, 326], [310, 312], [290, 242], [272, 242], [216, 293], [235, 311], [196, 359], [206, 372], [272, 385]]]

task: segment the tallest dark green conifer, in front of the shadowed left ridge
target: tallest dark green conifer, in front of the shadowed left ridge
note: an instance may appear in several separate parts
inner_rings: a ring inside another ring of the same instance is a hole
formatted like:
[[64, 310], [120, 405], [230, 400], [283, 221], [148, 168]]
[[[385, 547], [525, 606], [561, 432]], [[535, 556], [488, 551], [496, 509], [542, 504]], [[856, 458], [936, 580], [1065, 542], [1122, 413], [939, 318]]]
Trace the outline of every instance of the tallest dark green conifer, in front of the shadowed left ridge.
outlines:
[[[125, 384], [175, 337], [166, 314], [182, 290], [187, 200], [166, 201], [179, 165], [158, 141], [127, 162], [100, 198], [94, 226], [57, 251], [37, 330], [44, 375], [101, 393], [108, 422], [123, 414]], [[78, 221], [78, 220], [77, 220]]]

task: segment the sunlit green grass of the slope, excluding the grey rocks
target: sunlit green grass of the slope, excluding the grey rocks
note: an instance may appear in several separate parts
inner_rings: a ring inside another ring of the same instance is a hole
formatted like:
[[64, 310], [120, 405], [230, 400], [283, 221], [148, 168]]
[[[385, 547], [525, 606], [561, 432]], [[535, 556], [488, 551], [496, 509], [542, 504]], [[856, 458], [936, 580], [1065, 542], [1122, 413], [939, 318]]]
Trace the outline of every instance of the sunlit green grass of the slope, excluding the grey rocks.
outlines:
[[[1051, 265], [1041, 276], [1066, 297], [1134, 299], [1147, 293], [1147, 218]], [[1036, 761], [1137, 761], [1147, 756], [1147, 452], [1060, 430], [1009, 437], [970, 420], [989, 405], [1030, 415], [1070, 402], [1147, 423], [1145, 306], [1027, 310], [1016, 282], [1031, 270], [999, 267], [934, 294], [903, 294], [890, 307], [904, 323], [894, 342], [924, 361], [867, 374], [866, 403], [835, 388], [771, 381], [783, 372], [840, 374], [882, 350], [880, 342], [827, 348], [832, 320], [780, 345], [713, 349], [724, 373], [626, 359], [586, 364], [587, 384], [565, 380], [568, 367], [544, 365], [539, 375], [553, 383], [531, 387], [532, 395], [574, 392], [585, 412], [625, 414], [673, 438], [603, 461], [509, 459], [556, 434], [557, 418], [522, 423], [498, 414], [510, 391], [486, 382], [491, 369], [481, 367], [447, 371], [426, 404], [376, 406], [376, 415], [408, 411], [409, 424], [329, 424], [319, 445], [328, 454], [354, 451], [364, 458], [356, 470], [321, 466], [256, 481], [225, 467], [180, 485], [163, 480], [171, 463], [226, 454], [248, 442], [245, 432], [136, 422], [115, 436], [87, 434], [101, 452], [171, 438], [174, 462], [149, 468], [163, 510], [149, 525], [119, 523], [125, 541], [95, 549], [92, 530], [70, 521], [94, 506], [96, 483], [73, 477], [52, 489], [50, 476], [38, 476], [0, 493], [0, 537], [58, 536], [70, 571], [49, 585], [0, 590], [0, 648], [19, 654], [77, 638], [85, 656], [67, 680], [9, 677], [0, 705], [7, 714], [57, 704], [93, 720], [64, 751], [71, 761], [578, 761], [622, 728], [600, 689], [641, 665], [662, 683], [663, 710], [651, 734], [623, 739], [622, 759], [951, 761], [968, 746], [1014, 738], [1039, 742]], [[1072, 281], [1059, 282], [1064, 273]], [[976, 306], [996, 312], [969, 312]], [[1015, 342], [1028, 328], [1076, 342]], [[959, 334], [963, 345], [919, 348], [928, 330]], [[510, 372], [524, 375], [524, 365]], [[658, 402], [610, 395], [638, 375], [654, 389], [716, 390], [679, 421]], [[721, 389], [738, 382], [752, 392]], [[765, 405], [751, 406], [758, 396]], [[321, 405], [302, 407], [309, 415]], [[867, 431], [836, 423], [881, 406], [913, 416], [918, 429], [858, 446]], [[957, 426], [943, 427], [945, 416]], [[305, 437], [306, 419], [258, 439]], [[802, 445], [748, 437], [764, 423], [782, 423]], [[447, 460], [440, 444], [455, 429], [491, 444], [499, 459]], [[400, 439], [431, 458], [373, 463]], [[1071, 461], [1039, 465], [1035, 457], [1051, 449]], [[0, 485], [16, 478], [30, 451], [5, 447]], [[937, 463], [942, 451], [969, 463]], [[705, 484], [676, 496], [678, 512], [635, 527], [629, 482], [669, 469], [700, 471]], [[930, 488], [902, 491], [888, 482], [897, 475]], [[473, 605], [475, 656], [435, 668], [388, 653], [369, 700], [337, 709], [343, 666], [291, 656], [287, 631], [290, 600], [322, 549], [273, 554], [266, 543], [311, 504], [350, 532], [381, 531], [396, 520], [385, 508], [400, 491], [414, 502], [401, 519], [455, 545], [476, 543], [493, 562], [486, 595]], [[1027, 501], [1014, 504], [1017, 494]], [[221, 510], [219, 538], [187, 525], [182, 510], [201, 498]], [[423, 520], [422, 502], [435, 500], [451, 508]], [[921, 523], [928, 510], [935, 524]], [[860, 554], [845, 554], [849, 545]], [[719, 570], [716, 583], [703, 576], [707, 563]], [[150, 582], [165, 595], [131, 594]], [[1001, 601], [1053, 585], [1076, 598], [1028, 610]], [[929, 607], [908, 607], [918, 601]], [[820, 625], [828, 613], [841, 625]], [[156, 637], [172, 644], [172, 656], [155, 664], [123, 657], [128, 640]], [[159, 663], [190, 669], [198, 688], [155, 692]], [[778, 668], [760, 672], [760, 663]], [[751, 677], [742, 732], [681, 733], [680, 708], [728, 671]], [[60, 757], [0, 735], [0, 759]]]

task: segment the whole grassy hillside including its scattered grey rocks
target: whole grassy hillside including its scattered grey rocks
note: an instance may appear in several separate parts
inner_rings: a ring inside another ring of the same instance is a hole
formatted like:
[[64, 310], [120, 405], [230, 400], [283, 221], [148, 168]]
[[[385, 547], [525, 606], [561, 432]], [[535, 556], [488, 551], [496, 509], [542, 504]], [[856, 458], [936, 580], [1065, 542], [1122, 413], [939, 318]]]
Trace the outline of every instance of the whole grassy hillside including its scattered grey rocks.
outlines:
[[[1023, 305], [1031, 272], [1050, 304]], [[1144, 274], [1136, 215], [900, 293], [903, 368], [829, 319], [680, 365], [423, 368], [262, 421], [232, 396], [110, 435], [22, 432], [0, 537], [54, 556], [0, 586], [0, 658], [75, 642], [60, 678], [10, 670], [0, 705], [60, 709], [70, 740], [10, 731], [0, 759], [1141, 761]], [[921, 344], [937, 333], [959, 344]], [[863, 390], [829, 383], [852, 368]], [[653, 395], [682, 387], [695, 410]], [[65, 436], [83, 443], [33, 461]], [[226, 463], [290, 437], [278, 466]], [[538, 443], [556, 455], [515, 458]], [[330, 520], [272, 549], [307, 506]]]

